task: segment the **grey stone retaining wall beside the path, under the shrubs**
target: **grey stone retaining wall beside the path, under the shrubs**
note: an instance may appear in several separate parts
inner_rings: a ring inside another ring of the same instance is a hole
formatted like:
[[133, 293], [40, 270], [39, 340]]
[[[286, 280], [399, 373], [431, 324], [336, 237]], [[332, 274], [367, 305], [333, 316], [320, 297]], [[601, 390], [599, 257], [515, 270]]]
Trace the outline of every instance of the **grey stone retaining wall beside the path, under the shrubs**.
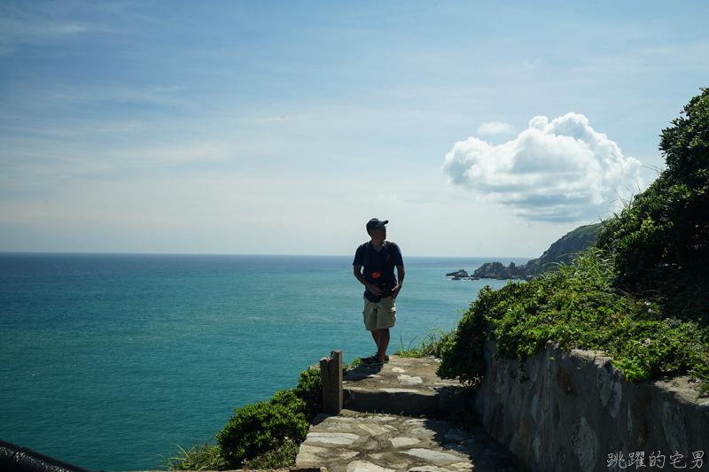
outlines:
[[709, 401], [688, 377], [627, 383], [608, 357], [551, 342], [523, 372], [494, 352], [487, 342], [475, 407], [534, 472], [709, 470]]

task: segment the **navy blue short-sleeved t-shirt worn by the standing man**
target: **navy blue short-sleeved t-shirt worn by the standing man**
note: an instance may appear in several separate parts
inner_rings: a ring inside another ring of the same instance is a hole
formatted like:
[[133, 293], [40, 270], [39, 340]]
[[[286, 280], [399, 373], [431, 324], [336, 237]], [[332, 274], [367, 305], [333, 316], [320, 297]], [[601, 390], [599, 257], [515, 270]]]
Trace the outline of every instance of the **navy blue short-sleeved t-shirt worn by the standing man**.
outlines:
[[[390, 248], [391, 246], [391, 248]], [[389, 254], [389, 261], [386, 261], [386, 255]], [[401, 259], [401, 249], [396, 243], [385, 241], [382, 244], [380, 251], [375, 250], [371, 241], [360, 244], [357, 251], [354, 252], [353, 266], [364, 267], [364, 280], [374, 285], [386, 285], [389, 290], [396, 287], [396, 275], [393, 273], [393, 268], [403, 266], [404, 261]], [[373, 277], [373, 274], [379, 273], [378, 277]], [[364, 289], [364, 298], [370, 302], [377, 303], [381, 297], [377, 297], [370, 290]]]

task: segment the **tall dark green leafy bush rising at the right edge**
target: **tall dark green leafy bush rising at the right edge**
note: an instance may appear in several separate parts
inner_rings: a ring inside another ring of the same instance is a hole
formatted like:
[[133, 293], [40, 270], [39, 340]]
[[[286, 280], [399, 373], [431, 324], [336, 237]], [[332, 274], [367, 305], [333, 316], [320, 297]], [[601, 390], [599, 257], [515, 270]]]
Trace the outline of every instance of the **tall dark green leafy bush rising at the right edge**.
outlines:
[[597, 245], [615, 254], [614, 286], [659, 298], [668, 314], [699, 321], [709, 302], [709, 90], [662, 131], [667, 168], [604, 222]]

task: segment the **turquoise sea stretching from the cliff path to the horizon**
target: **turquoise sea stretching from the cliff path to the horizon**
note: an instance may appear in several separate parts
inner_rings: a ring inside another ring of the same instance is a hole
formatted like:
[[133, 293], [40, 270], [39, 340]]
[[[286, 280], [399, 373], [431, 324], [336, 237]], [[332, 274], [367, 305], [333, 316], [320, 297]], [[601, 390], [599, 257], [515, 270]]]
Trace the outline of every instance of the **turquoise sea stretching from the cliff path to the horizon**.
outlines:
[[[388, 352], [505, 283], [447, 272], [527, 260], [404, 256]], [[158, 467], [331, 350], [374, 352], [352, 259], [0, 254], [0, 438], [82, 468]]]

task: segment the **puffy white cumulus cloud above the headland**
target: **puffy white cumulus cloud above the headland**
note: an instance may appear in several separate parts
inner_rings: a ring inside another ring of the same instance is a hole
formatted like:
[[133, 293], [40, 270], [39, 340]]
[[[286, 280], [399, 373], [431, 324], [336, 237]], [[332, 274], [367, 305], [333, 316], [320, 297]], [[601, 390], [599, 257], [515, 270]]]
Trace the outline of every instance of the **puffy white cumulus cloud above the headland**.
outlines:
[[478, 197], [510, 206], [533, 221], [588, 221], [612, 200], [640, 185], [641, 163], [624, 158], [618, 144], [567, 113], [536, 116], [517, 138], [491, 145], [476, 137], [446, 155], [448, 182]]

